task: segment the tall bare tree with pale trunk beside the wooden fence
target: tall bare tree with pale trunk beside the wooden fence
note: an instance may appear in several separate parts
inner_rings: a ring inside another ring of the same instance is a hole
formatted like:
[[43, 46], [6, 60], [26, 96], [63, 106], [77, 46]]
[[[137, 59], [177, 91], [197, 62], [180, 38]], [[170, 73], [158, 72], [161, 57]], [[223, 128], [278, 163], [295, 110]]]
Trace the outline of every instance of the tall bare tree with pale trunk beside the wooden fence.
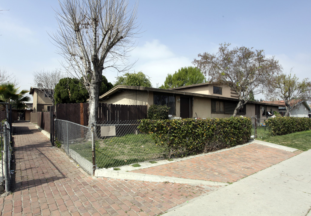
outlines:
[[126, 0], [64, 0], [59, 5], [59, 30], [52, 38], [69, 72], [83, 78], [90, 96], [89, 124], [95, 123], [103, 71], [131, 66], [125, 60], [139, 31], [137, 4], [128, 8]]

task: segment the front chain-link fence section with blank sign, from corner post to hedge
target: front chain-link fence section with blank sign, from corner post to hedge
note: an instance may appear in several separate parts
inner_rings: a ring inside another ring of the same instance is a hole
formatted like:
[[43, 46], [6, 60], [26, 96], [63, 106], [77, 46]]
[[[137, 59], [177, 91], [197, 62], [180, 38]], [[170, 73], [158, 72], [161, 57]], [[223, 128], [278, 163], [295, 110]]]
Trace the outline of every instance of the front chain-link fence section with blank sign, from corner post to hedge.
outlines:
[[163, 158], [163, 149], [155, 144], [150, 134], [142, 134], [138, 125], [139, 120], [96, 124], [96, 166], [120, 167]]

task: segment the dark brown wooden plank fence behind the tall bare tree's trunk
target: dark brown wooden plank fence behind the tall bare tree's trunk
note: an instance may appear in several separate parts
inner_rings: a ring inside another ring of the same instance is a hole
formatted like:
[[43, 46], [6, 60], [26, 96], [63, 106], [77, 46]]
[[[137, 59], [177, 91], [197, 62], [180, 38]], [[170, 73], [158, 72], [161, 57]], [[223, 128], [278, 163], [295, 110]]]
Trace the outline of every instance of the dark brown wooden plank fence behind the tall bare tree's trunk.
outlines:
[[[56, 118], [67, 120], [81, 125], [88, 125], [89, 112], [88, 103], [56, 104]], [[147, 117], [146, 105], [120, 105], [104, 104], [98, 105], [98, 123], [123, 122], [138, 120]]]

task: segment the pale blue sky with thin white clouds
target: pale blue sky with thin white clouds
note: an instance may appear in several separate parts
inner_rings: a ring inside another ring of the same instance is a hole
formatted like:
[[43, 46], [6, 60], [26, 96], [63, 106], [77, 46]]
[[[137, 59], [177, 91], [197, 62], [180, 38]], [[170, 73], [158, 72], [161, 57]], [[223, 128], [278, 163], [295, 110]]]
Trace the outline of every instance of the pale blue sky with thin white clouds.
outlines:
[[[58, 29], [57, 8], [56, 0], [0, 2], [0, 70], [14, 74], [20, 89], [36, 85], [34, 72], [61, 68], [64, 59], [49, 36]], [[141, 33], [130, 53], [130, 62], [137, 61], [132, 70], [142, 71], [153, 87], [160, 87], [168, 73], [193, 66], [199, 53], [216, 53], [220, 43], [231, 43], [263, 49], [266, 57], [279, 60], [284, 73], [292, 68], [300, 80], [309, 78], [310, 10], [307, 0], [141, 0]], [[122, 74], [103, 75], [114, 83]]]

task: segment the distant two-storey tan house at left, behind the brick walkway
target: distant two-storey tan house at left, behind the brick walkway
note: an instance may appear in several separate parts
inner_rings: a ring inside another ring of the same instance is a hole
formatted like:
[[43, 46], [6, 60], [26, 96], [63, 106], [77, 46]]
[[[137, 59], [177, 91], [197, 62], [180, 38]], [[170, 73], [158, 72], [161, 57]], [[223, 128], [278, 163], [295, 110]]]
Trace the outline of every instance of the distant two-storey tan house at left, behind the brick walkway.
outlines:
[[30, 87], [29, 94], [33, 96], [33, 112], [49, 111], [52, 101], [38, 88]]

